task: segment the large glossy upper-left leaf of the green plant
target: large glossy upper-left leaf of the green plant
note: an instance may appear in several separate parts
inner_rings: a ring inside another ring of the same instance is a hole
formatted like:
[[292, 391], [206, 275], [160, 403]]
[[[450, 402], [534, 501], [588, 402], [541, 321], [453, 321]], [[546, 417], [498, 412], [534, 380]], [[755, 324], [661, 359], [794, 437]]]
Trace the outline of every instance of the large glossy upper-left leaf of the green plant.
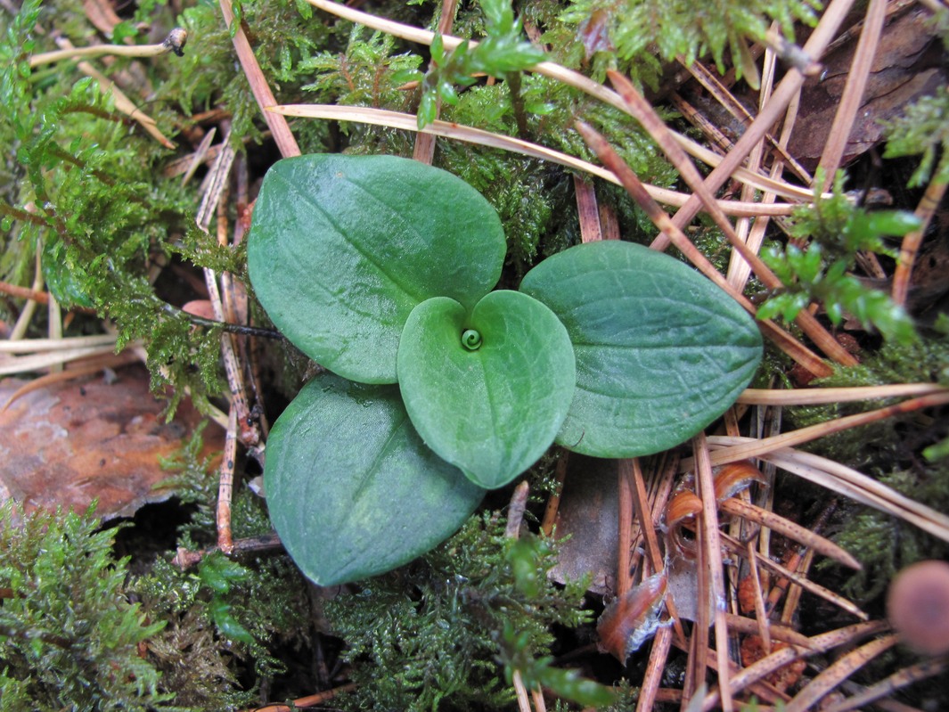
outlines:
[[395, 383], [409, 313], [473, 307], [507, 249], [491, 204], [460, 178], [392, 156], [283, 159], [253, 211], [248, 269], [274, 325], [326, 368]]

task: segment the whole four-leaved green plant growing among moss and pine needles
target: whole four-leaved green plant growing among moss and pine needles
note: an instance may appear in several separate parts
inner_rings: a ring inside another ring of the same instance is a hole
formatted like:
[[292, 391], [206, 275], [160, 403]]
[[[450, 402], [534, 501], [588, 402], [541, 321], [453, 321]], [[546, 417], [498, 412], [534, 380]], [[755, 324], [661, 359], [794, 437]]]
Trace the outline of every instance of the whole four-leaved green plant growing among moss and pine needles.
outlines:
[[580, 245], [493, 290], [506, 246], [484, 197], [417, 161], [304, 156], [264, 178], [251, 283], [335, 374], [274, 424], [264, 473], [273, 525], [314, 582], [431, 549], [555, 441], [660, 452], [751, 381], [754, 321], [677, 260]]

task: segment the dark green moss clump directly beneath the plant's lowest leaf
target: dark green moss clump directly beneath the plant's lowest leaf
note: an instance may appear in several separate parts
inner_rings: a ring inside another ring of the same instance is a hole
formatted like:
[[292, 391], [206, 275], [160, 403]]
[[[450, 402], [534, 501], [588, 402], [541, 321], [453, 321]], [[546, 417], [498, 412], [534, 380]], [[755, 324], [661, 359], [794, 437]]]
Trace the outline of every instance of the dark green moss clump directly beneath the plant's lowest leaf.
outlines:
[[547, 582], [551, 552], [538, 562], [539, 590], [518, 588], [496, 515], [474, 516], [415, 564], [326, 602], [332, 631], [344, 639], [356, 691], [346, 709], [498, 709], [512, 702], [503, 682], [505, 627], [526, 637], [533, 655], [549, 651], [549, 627], [586, 622], [583, 585]]

